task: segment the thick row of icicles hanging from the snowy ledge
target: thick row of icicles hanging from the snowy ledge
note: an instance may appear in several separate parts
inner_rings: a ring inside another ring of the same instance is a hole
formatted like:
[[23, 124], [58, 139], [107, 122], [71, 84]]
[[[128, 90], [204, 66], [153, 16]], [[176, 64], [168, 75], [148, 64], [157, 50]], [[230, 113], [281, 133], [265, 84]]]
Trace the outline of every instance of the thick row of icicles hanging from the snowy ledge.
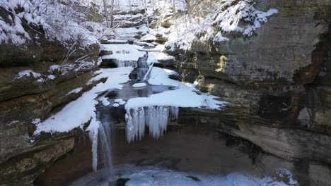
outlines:
[[147, 106], [127, 109], [127, 141], [141, 140], [145, 127], [149, 127], [149, 134], [158, 139], [167, 130], [170, 118], [178, 119], [178, 107], [175, 106]]

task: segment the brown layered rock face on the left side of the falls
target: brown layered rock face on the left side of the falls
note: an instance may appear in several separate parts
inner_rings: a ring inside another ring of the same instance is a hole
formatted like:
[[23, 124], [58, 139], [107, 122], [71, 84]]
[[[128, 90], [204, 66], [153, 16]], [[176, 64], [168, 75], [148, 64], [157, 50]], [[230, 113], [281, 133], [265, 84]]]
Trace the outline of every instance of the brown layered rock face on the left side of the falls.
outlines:
[[[67, 49], [48, 41], [0, 46], [0, 185], [33, 185], [56, 159], [74, 147], [81, 130], [33, 137], [35, 122], [59, 111], [96, 82], [98, 45]], [[85, 61], [77, 58], [88, 56]]]

